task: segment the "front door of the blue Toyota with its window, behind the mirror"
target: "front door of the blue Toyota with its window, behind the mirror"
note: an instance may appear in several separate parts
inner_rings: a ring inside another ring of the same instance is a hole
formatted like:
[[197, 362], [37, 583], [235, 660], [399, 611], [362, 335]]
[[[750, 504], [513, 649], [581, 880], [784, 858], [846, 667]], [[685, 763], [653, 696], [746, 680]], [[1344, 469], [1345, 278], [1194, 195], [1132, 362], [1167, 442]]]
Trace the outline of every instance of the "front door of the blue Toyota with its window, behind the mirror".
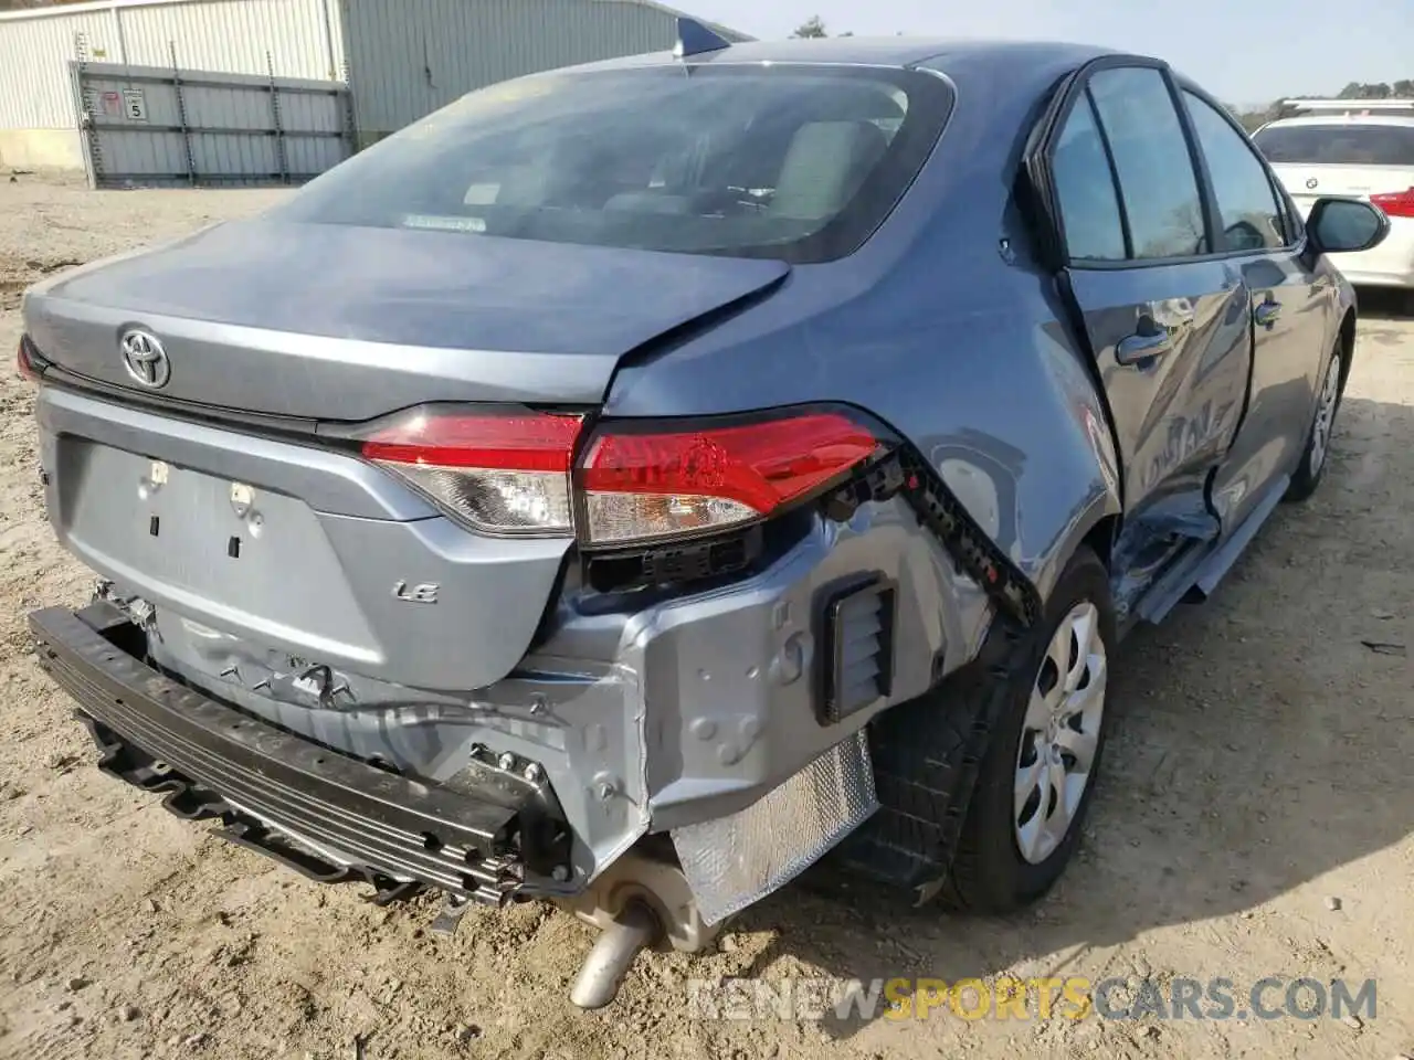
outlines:
[[1247, 414], [1212, 489], [1213, 509], [1230, 531], [1301, 458], [1339, 324], [1339, 290], [1328, 271], [1308, 267], [1274, 177], [1233, 119], [1192, 86], [1179, 95], [1217, 209], [1219, 239], [1251, 294]]

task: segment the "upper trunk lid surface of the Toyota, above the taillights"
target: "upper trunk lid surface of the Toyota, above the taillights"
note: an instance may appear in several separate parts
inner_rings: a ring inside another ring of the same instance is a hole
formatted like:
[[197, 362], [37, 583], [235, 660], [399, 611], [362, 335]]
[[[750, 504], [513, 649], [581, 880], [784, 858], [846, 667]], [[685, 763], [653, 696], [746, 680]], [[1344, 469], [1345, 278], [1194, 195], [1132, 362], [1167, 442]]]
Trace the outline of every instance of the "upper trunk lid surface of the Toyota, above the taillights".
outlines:
[[40, 353], [153, 397], [358, 421], [426, 400], [598, 403], [619, 359], [789, 273], [744, 260], [467, 233], [236, 222], [33, 288]]

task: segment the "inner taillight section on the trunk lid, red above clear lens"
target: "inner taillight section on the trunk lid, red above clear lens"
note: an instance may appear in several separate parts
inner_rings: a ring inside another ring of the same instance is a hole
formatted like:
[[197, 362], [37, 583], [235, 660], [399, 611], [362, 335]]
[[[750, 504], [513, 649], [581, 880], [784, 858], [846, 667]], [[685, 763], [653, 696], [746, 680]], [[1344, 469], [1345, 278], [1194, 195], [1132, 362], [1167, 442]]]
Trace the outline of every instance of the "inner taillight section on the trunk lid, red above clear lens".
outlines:
[[362, 452], [478, 530], [570, 534], [581, 424], [578, 416], [424, 408], [378, 427]]

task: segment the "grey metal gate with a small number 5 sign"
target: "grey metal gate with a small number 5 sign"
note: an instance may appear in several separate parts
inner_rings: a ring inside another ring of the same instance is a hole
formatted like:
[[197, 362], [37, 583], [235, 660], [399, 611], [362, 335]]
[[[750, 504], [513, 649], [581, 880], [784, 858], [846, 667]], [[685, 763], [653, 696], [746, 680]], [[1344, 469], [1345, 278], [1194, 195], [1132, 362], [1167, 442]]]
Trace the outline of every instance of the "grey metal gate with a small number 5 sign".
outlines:
[[352, 154], [338, 81], [69, 65], [90, 188], [303, 184]]

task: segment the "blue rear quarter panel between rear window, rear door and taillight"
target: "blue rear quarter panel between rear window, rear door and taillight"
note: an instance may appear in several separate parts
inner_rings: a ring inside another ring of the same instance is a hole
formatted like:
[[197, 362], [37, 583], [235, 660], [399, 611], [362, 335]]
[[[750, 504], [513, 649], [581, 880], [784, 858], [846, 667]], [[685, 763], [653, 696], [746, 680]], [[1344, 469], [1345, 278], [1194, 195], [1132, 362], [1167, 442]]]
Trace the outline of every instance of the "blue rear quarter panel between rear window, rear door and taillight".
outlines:
[[1007, 82], [984, 64], [947, 71], [953, 117], [863, 249], [797, 266], [749, 312], [621, 366], [605, 411], [861, 407], [923, 454], [1045, 596], [1083, 536], [1120, 512], [1087, 353], [1011, 202], [1024, 139], [1066, 68]]

